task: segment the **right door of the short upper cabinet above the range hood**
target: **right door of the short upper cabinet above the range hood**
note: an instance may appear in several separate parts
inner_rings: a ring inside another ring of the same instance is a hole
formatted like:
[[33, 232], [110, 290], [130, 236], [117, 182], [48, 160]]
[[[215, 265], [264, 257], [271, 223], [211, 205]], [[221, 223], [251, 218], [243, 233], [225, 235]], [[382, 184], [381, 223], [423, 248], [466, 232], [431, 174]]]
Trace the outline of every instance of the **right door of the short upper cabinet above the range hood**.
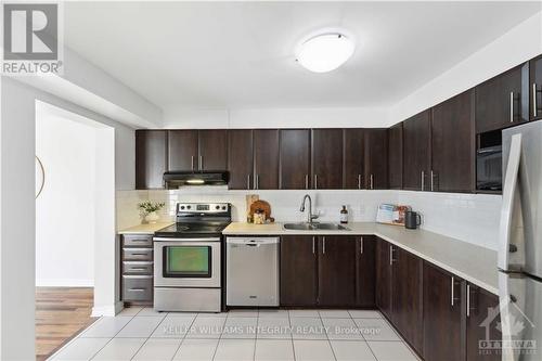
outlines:
[[225, 170], [228, 167], [228, 131], [199, 130], [198, 170]]

